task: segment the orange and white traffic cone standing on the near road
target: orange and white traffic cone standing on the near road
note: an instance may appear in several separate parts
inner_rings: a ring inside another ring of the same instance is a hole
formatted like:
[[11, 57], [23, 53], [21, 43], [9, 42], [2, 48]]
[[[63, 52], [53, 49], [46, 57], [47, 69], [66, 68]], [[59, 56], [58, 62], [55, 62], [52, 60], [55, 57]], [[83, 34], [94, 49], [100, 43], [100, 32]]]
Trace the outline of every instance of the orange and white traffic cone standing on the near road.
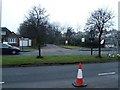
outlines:
[[81, 63], [79, 65], [77, 79], [74, 83], [72, 83], [72, 85], [75, 86], [75, 87], [86, 87], [87, 86], [87, 84], [84, 84], [84, 79], [83, 79], [83, 74], [82, 74], [82, 64]]

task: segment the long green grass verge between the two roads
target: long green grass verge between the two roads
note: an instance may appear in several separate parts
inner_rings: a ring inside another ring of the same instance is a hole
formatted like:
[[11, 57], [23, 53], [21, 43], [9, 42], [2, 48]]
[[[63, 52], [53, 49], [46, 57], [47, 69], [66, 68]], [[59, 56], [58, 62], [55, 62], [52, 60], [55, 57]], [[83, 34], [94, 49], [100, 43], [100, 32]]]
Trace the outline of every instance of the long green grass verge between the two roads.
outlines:
[[[69, 64], [69, 63], [91, 63], [91, 62], [106, 62], [116, 61], [116, 58], [103, 56], [103, 58], [96, 58], [95, 56], [45, 56], [42, 59], [37, 59], [33, 56], [3, 56], [3, 66], [16, 65], [37, 65], [37, 64]], [[1, 61], [0, 61], [1, 62]]]

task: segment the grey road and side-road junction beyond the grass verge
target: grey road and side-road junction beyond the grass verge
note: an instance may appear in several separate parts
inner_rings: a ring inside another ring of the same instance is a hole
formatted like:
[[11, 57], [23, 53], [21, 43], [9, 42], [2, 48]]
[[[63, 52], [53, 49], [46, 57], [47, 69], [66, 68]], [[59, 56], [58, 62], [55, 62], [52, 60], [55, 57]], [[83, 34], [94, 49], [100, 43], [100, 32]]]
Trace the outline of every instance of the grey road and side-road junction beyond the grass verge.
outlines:
[[[52, 56], [52, 55], [91, 55], [90, 50], [81, 50], [81, 49], [65, 49], [58, 47], [56, 45], [48, 44], [46, 47], [41, 50], [43, 56]], [[116, 53], [115, 51], [102, 51], [102, 54]], [[98, 51], [93, 51], [93, 55], [97, 55]], [[32, 52], [21, 52], [21, 56], [37, 56], [38, 50]]]

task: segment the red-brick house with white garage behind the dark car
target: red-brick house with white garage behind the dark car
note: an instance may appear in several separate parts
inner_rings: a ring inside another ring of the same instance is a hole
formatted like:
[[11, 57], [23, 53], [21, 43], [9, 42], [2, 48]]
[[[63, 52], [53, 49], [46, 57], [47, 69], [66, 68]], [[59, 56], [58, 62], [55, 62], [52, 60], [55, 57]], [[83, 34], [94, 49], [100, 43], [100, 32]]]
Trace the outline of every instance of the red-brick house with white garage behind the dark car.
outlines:
[[8, 43], [12, 46], [31, 46], [32, 41], [29, 38], [24, 38], [15, 34], [14, 32], [11, 32], [9, 29], [7, 29], [6, 27], [2, 27], [1, 28], [1, 42], [2, 43]]

